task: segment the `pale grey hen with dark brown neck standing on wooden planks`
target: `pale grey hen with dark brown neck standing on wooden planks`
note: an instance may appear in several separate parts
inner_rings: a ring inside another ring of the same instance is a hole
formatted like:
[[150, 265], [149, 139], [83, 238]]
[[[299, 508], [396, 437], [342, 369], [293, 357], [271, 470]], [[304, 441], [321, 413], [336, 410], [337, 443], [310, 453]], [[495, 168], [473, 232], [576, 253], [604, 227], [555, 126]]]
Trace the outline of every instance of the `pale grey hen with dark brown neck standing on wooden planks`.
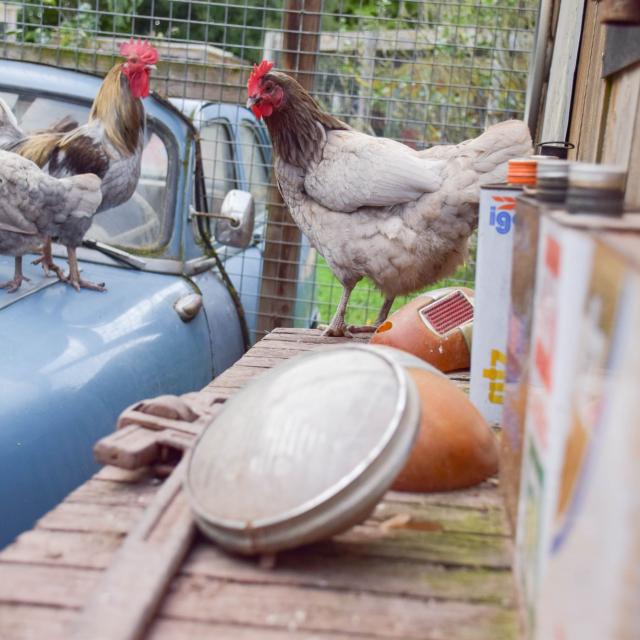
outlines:
[[[466, 260], [480, 186], [503, 181], [507, 161], [531, 153], [529, 130], [510, 120], [458, 145], [416, 151], [353, 130], [272, 68], [267, 60], [254, 65], [247, 108], [269, 129], [278, 187], [293, 220], [342, 283], [325, 335], [373, 331], [396, 296], [452, 274]], [[349, 296], [365, 277], [384, 303], [373, 326], [347, 327]]]

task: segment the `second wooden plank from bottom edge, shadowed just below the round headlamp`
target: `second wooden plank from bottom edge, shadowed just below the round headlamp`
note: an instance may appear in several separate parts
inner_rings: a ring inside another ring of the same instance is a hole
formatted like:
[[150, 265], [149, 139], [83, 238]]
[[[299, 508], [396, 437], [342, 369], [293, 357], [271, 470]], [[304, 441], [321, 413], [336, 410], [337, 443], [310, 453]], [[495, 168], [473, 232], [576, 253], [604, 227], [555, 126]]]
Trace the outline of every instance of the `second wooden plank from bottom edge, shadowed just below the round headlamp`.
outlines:
[[[32, 531], [5, 550], [0, 574], [9, 562], [105, 569], [121, 541], [120, 537], [107, 533]], [[348, 552], [327, 554], [322, 546], [280, 553], [275, 568], [264, 569], [255, 558], [235, 557], [215, 545], [198, 544], [181, 573], [237, 583], [297, 585], [501, 606], [514, 604], [509, 571], [445, 568], [433, 563], [399, 562], [395, 558]]]

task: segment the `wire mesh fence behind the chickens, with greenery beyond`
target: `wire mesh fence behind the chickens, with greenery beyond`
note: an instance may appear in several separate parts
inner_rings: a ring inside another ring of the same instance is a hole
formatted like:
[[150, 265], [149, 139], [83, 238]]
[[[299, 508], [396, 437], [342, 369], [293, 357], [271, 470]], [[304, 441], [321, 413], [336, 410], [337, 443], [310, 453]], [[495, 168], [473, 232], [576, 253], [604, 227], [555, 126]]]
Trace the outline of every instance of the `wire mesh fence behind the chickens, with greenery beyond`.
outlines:
[[[197, 121], [210, 208], [240, 183], [256, 199], [255, 250], [218, 247], [255, 337], [327, 322], [341, 286], [279, 212], [268, 139], [242, 107], [251, 65], [274, 60], [367, 133], [417, 149], [455, 143], [522, 116], [537, 9], [538, 0], [0, 2], [0, 56], [104, 74], [125, 38], [154, 42], [152, 87]], [[205, 118], [205, 103], [230, 105], [236, 117]], [[241, 154], [227, 145], [231, 126]], [[445, 284], [472, 283], [473, 255]], [[371, 321], [381, 300], [360, 283], [347, 320]]]

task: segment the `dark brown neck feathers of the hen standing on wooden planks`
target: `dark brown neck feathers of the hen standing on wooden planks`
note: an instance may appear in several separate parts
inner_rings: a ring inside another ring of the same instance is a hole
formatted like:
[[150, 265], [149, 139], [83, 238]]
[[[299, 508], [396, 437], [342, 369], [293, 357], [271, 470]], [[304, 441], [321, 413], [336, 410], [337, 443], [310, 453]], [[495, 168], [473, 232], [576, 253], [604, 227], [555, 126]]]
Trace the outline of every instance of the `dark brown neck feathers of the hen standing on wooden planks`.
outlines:
[[268, 77], [284, 89], [285, 96], [282, 105], [264, 119], [275, 152], [287, 164], [306, 169], [309, 162], [320, 159], [324, 132], [349, 126], [322, 111], [293, 78], [277, 72]]

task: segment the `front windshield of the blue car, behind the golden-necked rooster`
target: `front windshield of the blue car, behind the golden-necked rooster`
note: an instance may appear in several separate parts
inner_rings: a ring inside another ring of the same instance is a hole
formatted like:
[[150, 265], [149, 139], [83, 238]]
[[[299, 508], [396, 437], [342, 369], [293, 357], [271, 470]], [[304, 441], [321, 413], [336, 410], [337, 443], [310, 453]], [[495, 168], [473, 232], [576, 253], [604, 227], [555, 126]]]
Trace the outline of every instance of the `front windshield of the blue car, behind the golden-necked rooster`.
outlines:
[[[58, 97], [43, 97], [28, 92], [0, 91], [25, 131], [43, 129], [71, 116], [79, 123], [87, 121], [89, 107]], [[94, 216], [86, 238], [124, 249], [154, 250], [168, 242], [172, 229], [173, 189], [171, 167], [175, 165], [167, 136], [147, 118], [140, 182], [133, 196], [118, 207]]]

